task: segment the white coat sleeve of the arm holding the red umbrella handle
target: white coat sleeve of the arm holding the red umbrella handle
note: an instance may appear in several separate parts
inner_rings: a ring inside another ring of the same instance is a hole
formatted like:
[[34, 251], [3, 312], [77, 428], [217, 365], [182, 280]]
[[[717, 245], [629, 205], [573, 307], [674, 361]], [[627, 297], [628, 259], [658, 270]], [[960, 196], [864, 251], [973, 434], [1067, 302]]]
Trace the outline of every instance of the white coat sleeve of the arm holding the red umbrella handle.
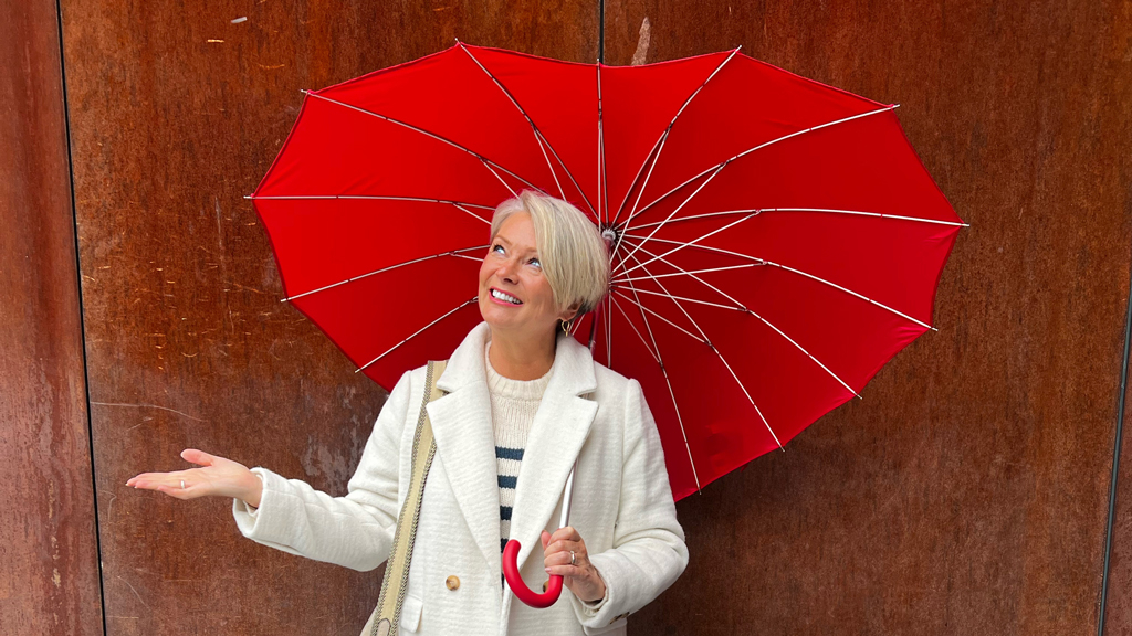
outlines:
[[659, 596], [688, 565], [660, 433], [641, 384], [633, 379], [626, 389], [624, 431], [614, 547], [590, 555], [606, 582], [606, 596], [591, 605], [569, 595], [586, 634], [619, 628], [629, 613]]

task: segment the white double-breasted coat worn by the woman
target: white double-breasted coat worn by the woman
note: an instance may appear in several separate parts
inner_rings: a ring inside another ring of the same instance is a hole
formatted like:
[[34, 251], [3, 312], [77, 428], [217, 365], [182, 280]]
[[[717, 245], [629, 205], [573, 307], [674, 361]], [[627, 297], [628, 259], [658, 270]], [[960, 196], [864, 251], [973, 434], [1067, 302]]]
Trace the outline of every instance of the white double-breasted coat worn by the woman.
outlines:
[[[428, 405], [437, 454], [424, 484], [401, 633], [625, 634], [625, 618], [671, 585], [688, 560], [641, 385], [595, 363], [588, 347], [559, 335], [520, 470], [511, 538], [522, 544], [523, 578], [541, 590], [547, 574], [540, 534], [557, 530], [576, 458], [569, 523], [585, 541], [607, 593], [590, 607], [564, 586], [557, 603], [535, 610], [500, 583], [499, 488], [483, 364], [489, 335], [486, 323], [468, 334], [438, 383], [447, 394]], [[590, 392], [592, 399], [582, 397]], [[240, 531], [265, 545], [358, 570], [381, 565], [405, 498], [423, 394], [424, 367], [401, 377], [345, 497], [254, 469], [264, 482], [263, 498], [258, 509], [235, 501]], [[446, 581], [453, 576], [460, 585], [449, 590]]]

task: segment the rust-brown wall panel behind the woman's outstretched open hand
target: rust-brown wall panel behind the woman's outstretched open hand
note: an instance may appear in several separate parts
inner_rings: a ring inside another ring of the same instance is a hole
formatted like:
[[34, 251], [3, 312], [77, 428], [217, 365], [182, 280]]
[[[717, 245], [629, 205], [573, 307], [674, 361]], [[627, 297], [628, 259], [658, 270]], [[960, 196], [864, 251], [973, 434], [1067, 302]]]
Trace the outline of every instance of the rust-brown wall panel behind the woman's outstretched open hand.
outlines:
[[[455, 37], [597, 58], [594, 5], [63, 0], [109, 634], [351, 634], [380, 573], [127, 489], [195, 446], [345, 484], [385, 397], [291, 307], [249, 201], [320, 88]], [[246, 17], [243, 22], [232, 20]]]

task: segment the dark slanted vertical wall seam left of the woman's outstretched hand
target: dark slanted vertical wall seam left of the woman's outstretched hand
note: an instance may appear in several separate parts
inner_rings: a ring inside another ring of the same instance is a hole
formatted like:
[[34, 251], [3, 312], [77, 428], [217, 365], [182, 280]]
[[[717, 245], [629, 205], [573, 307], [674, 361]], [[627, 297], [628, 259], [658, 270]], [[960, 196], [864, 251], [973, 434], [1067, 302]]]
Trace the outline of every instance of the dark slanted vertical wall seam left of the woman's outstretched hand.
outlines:
[[75, 231], [75, 289], [78, 293], [78, 335], [83, 360], [83, 387], [86, 397], [86, 441], [91, 457], [91, 500], [94, 509], [94, 544], [98, 566], [98, 605], [102, 617], [102, 634], [106, 635], [106, 586], [102, 570], [102, 526], [98, 524], [98, 487], [94, 470], [94, 423], [91, 416], [91, 373], [86, 363], [86, 316], [83, 307], [83, 263], [78, 244], [78, 207], [75, 200], [75, 157], [71, 154], [70, 103], [67, 100], [67, 62], [63, 58], [63, 8], [55, 0], [55, 24], [59, 28], [59, 81], [63, 98], [63, 135], [67, 143], [67, 179], [70, 188], [71, 226]]

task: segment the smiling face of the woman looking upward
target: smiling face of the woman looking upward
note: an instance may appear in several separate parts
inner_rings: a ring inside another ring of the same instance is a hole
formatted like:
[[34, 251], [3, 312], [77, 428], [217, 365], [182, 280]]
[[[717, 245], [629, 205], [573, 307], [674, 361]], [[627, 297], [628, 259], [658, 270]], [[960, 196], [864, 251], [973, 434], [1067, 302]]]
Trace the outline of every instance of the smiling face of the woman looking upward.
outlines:
[[492, 333], [498, 329], [521, 337], [554, 333], [559, 319], [571, 317], [555, 306], [529, 213], [508, 216], [488, 247], [480, 265], [479, 304]]

